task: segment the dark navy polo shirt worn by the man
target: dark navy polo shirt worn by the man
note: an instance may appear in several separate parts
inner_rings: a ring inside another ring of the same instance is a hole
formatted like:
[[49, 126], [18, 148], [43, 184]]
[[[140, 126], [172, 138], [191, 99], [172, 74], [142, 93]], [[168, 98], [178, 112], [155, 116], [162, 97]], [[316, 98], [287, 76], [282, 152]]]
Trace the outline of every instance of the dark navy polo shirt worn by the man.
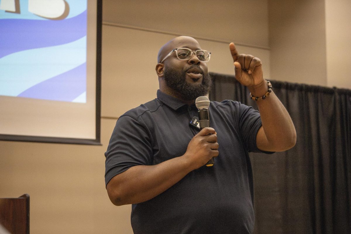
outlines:
[[[253, 181], [248, 152], [259, 152], [258, 111], [237, 101], [211, 101], [210, 125], [219, 155], [155, 198], [132, 205], [131, 224], [143, 233], [252, 233]], [[157, 91], [157, 98], [118, 119], [108, 145], [105, 182], [136, 165], [156, 165], [183, 155], [198, 130], [188, 106]]]

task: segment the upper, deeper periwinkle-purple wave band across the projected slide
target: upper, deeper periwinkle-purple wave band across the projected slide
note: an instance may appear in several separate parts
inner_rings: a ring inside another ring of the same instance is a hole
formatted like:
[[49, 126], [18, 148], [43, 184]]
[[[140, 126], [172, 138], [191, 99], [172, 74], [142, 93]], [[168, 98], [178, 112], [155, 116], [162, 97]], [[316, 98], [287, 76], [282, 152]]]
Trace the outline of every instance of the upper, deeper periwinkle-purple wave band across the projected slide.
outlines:
[[65, 20], [0, 19], [0, 58], [18, 51], [66, 44], [87, 32], [87, 11]]

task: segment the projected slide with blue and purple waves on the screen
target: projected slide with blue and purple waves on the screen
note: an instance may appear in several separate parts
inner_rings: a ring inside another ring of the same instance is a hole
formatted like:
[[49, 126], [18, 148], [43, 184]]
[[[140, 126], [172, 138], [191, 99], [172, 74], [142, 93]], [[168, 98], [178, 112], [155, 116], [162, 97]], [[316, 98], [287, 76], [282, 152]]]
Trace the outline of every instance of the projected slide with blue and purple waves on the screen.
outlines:
[[86, 103], [87, 0], [0, 0], [0, 95]]

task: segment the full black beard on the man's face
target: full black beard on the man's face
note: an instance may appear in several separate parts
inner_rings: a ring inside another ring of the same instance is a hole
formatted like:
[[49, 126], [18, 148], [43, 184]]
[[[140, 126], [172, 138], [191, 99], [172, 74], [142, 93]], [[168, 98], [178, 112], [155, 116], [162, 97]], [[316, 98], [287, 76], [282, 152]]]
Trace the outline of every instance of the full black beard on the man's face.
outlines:
[[[193, 67], [200, 68], [197, 65], [192, 65], [190, 68], [187, 68], [187, 70]], [[174, 91], [178, 92], [185, 101], [195, 100], [197, 97], [205, 96], [207, 93], [210, 92], [212, 86], [212, 79], [208, 73], [203, 73], [202, 82], [199, 85], [193, 85], [191, 83], [186, 82], [185, 76], [186, 71], [184, 70], [178, 71], [176, 69], [167, 67], [164, 71], [164, 79], [166, 85]]]

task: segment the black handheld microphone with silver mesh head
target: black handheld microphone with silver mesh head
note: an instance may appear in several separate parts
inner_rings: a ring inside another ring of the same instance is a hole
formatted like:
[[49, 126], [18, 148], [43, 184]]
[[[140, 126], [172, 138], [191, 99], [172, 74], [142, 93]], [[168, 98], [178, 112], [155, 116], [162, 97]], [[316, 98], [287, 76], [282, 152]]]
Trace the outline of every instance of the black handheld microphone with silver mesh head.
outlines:
[[[195, 100], [195, 105], [196, 108], [198, 108], [200, 129], [210, 127], [210, 113], [208, 112], [210, 100], [206, 96], [200, 96]], [[214, 158], [210, 159], [210, 161], [206, 163], [206, 166], [212, 167], [213, 164]]]

